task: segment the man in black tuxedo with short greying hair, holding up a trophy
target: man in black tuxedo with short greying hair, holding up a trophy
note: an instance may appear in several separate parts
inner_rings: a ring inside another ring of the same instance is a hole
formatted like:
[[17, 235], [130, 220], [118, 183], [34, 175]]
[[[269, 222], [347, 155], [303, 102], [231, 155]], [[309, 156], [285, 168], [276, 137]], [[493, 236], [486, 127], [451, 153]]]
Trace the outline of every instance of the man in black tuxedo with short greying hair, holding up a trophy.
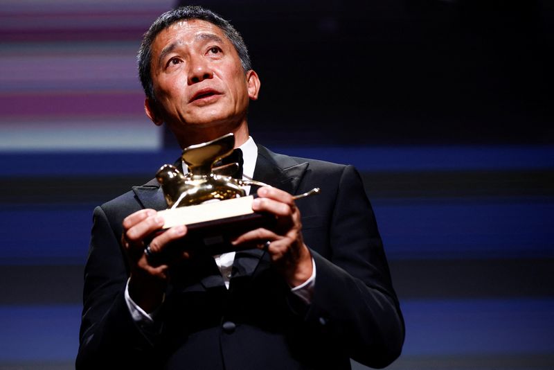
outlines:
[[[350, 369], [385, 367], [404, 324], [361, 179], [352, 166], [276, 155], [249, 136], [260, 80], [246, 46], [199, 7], [159, 17], [143, 38], [145, 112], [182, 148], [232, 132], [254, 211], [271, 229], [232, 240], [238, 252], [149, 256], [187, 234], [152, 233], [166, 209], [154, 180], [94, 212], [78, 369]], [[295, 200], [316, 186], [321, 195]], [[152, 238], [152, 240], [150, 240]], [[246, 248], [246, 249], [245, 249]], [[148, 255], [148, 256], [147, 256]]]

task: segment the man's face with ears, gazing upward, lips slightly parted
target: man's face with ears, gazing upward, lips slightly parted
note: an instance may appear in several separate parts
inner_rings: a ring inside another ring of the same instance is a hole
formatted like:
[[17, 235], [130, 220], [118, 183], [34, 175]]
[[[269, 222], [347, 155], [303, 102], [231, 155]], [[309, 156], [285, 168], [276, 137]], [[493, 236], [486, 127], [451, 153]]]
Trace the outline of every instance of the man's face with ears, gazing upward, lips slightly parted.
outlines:
[[199, 19], [179, 21], [157, 35], [151, 73], [157, 103], [147, 101], [146, 112], [176, 134], [191, 125], [246, 124], [249, 99], [258, 97], [256, 73], [245, 75], [222, 30]]

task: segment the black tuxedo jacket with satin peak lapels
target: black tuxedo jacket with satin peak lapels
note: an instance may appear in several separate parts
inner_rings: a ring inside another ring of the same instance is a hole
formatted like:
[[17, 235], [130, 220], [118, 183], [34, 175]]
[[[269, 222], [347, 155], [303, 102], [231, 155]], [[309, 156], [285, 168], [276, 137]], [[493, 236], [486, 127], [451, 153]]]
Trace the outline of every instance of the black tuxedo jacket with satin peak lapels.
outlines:
[[292, 194], [316, 264], [312, 303], [290, 292], [260, 249], [238, 252], [229, 290], [211, 256], [172, 269], [157, 331], [129, 315], [122, 220], [165, 209], [157, 182], [94, 211], [84, 274], [78, 369], [350, 369], [384, 367], [402, 349], [404, 322], [370, 203], [352, 166], [277, 155], [258, 146], [254, 179]]

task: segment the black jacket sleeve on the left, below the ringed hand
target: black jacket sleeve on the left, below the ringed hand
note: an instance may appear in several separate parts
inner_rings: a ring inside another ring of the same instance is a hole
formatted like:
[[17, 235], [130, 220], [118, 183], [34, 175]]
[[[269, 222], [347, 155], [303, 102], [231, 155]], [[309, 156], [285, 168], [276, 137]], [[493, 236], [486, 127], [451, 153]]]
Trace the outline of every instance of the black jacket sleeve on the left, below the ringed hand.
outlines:
[[[120, 224], [113, 220], [113, 224]], [[152, 345], [136, 326], [125, 303], [128, 279], [120, 248], [120, 227], [112, 227], [102, 207], [93, 213], [76, 369], [141, 367], [150, 360]]]

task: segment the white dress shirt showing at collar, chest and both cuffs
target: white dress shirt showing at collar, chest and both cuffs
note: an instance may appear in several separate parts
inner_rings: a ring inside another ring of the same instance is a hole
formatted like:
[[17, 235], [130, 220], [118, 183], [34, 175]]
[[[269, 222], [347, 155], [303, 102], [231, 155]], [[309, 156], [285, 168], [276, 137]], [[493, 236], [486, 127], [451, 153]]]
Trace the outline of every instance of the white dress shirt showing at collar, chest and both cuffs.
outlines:
[[[249, 136], [246, 143], [242, 144], [242, 146], [240, 146], [239, 148], [240, 150], [242, 150], [242, 159], [244, 160], [244, 163], [242, 164], [242, 178], [252, 179], [254, 175], [254, 168], [256, 168], [256, 159], [258, 159], [258, 147], [256, 146], [256, 143], [254, 143], [252, 136]], [[184, 173], [188, 172], [187, 166], [185, 164], [183, 164], [183, 170]], [[245, 186], [244, 191], [249, 194], [250, 186]], [[220, 269], [226, 288], [229, 289], [231, 270], [233, 268], [233, 261], [235, 261], [235, 252], [218, 254], [216, 256], [213, 256], [213, 258], [215, 259], [217, 267], [219, 267]], [[314, 259], [312, 258], [312, 276], [310, 276], [310, 279], [307, 279], [307, 281], [305, 281], [301, 285], [292, 288], [291, 292], [296, 294], [306, 303], [310, 304], [314, 294], [315, 278], [316, 265]], [[139, 324], [139, 327], [147, 329], [148, 324], [153, 322], [155, 312], [145, 312], [136, 303], [134, 303], [134, 301], [129, 296], [128, 280], [127, 287], [125, 288], [125, 302], [127, 303], [127, 307], [129, 308], [134, 321]]]

